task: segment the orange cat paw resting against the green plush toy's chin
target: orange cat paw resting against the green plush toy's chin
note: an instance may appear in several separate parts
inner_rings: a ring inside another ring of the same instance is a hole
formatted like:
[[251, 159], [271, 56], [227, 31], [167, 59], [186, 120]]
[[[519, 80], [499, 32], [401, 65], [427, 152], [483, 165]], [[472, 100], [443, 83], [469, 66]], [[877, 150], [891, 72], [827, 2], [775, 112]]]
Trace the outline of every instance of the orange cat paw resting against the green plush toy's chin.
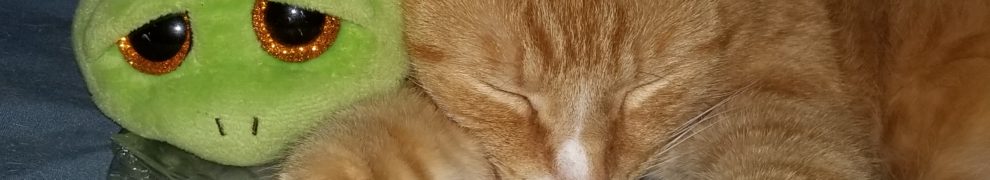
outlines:
[[290, 179], [493, 179], [478, 142], [413, 88], [333, 114], [282, 164]]

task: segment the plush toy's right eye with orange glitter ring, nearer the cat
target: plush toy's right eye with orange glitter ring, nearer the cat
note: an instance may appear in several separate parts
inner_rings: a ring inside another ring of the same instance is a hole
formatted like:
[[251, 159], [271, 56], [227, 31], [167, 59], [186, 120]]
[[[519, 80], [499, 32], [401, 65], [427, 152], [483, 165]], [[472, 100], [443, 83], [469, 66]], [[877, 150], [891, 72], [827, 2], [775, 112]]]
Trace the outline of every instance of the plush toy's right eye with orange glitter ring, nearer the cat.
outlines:
[[340, 30], [337, 17], [267, 0], [255, 1], [251, 17], [262, 48], [286, 62], [320, 56]]

